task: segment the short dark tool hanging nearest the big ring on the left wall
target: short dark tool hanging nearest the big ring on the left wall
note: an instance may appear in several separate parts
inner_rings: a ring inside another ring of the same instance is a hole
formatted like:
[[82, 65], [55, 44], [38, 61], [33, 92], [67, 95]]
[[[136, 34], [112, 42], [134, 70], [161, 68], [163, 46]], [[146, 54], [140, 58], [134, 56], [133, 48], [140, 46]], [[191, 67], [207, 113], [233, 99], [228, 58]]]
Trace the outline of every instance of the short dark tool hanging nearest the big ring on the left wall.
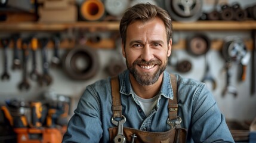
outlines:
[[60, 67], [61, 60], [58, 55], [58, 49], [60, 48], [60, 35], [54, 35], [53, 42], [54, 42], [54, 56], [51, 59], [51, 67]]

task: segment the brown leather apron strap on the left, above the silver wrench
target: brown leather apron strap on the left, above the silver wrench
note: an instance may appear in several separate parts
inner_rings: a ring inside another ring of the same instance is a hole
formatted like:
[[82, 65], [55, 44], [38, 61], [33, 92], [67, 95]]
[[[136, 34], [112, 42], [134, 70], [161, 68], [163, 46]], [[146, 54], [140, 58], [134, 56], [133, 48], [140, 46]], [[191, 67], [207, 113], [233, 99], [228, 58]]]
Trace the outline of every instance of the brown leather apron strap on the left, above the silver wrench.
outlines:
[[122, 117], [122, 105], [121, 105], [121, 96], [119, 93], [119, 79], [118, 76], [111, 78], [111, 94], [112, 94], [112, 111], [113, 118]]

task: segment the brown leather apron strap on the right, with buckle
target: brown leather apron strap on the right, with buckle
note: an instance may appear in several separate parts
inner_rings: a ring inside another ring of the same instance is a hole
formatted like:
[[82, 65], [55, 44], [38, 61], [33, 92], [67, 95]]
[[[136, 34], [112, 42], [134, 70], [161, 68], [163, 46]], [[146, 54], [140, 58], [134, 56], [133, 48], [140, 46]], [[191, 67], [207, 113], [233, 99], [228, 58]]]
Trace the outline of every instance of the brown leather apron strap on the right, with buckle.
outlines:
[[170, 76], [171, 76], [173, 100], [169, 99], [168, 110], [169, 110], [169, 120], [173, 120], [173, 119], [177, 119], [177, 113], [178, 113], [177, 79], [174, 74], [170, 74]]

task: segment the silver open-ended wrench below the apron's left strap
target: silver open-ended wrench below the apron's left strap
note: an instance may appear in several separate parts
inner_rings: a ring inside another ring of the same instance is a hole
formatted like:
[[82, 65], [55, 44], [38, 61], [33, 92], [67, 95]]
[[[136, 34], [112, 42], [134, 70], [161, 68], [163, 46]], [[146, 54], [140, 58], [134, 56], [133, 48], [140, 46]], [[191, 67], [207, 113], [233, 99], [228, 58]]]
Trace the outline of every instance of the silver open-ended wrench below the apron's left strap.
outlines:
[[115, 136], [114, 138], [114, 142], [115, 143], [125, 143], [126, 142], [126, 138], [124, 136], [124, 133], [123, 133], [123, 130], [124, 130], [124, 123], [126, 122], [126, 118], [125, 116], [122, 116], [122, 119], [119, 120], [119, 121], [116, 121], [115, 119], [113, 119], [112, 117], [112, 120], [111, 122], [118, 126], [118, 134]]

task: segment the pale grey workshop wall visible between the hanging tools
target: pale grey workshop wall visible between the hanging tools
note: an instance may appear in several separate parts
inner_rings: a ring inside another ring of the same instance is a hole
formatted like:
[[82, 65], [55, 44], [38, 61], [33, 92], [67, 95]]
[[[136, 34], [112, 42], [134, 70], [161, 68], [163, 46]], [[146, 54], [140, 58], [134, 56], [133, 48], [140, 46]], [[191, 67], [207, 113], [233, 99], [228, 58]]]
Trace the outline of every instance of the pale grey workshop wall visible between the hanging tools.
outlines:
[[[235, 0], [230, 0], [229, 3], [232, 4]], [[248, 1], [236, 1], [240, 2], [241, 7], [246, 7], [251, 4], [255, 4], [254, 0]], [[211, 11], [212, 5], [205, 5], [203, 7], [204, 11]], [[186, 39], [189, 36], [194, 35], [195, 33], [203, 33], [208, 36], [209, 39], [224, 39], [227, 36], [237, 35], [242, 39], [250, 39], [251, 31], [174, 31], [174, 45], [175, 40], [177, 39]], [[7, 36], [8, 33], [1, 33], [1, 38]], [[60, 49], [60, 57], [63, 57], [68, 49]], [[50, 86], [39, 86], [37, 82], [29, 79], [30, 89], [28, 91], [20, 91], [17, 86], [21, 82], [22, 72], [21, 70], [11, 70], [10, 72], [10, 80], [1, 80], [0, 81], [0, 102], [4, 104], [5, 100], [10, 100], [16, 98], [17, 100], [31, 101], [38, 100], [42, 95], [45, 94], [56, 94], [56, 95], [64, 95], [72, 98], [72, 111], [76, 108], [79, 98], [84, 92], [87, 85], [94, 83], [95, 81], [106, 78], [109, 74], [106, 71], [107, 66], [112, 62], [113, 57], [117, 57], [116, 59], [120, 60], [122, 63], [125, 63], [124, 58], [121, 55], [121, 45], [117, 42], [116, 49], [96, 49], [98, 54], [98, 67], [97, 73], [90, 79], [87, 80], [73, 80], [65, 71], [61, 68], [53, 68], [50, 67], [50, 74], [53, 77], [53, 82]], [[0, 49], [0, 53], [4, 54], [3, 48]], [[250, 55], [252, 54], [249, 51]], [[36, 51], [38, 55], [38, 70], [42, 72], [42, 59], [41, 59], [41, 51]], [[202, 80], [205, 74], [205, 56], [201, 55], [195, 57], [189, 54], [185, 47], [177, 47], [172, 49], [172, 55], [176, 55], [178, 60], [189, 60], [192, 63], [192, 69], [187, 73], [180, 73], [175, 70], [175, 67], [171, 64], [168, 65], [167, 70], [170, 72], [181, 74], [181, 76], [193, 78], [196, 80]], [[172, 58], [171, 55], [171, 58]], [[232, 64], [230, 68], [231, 77], [230, 83], [236, 87], [238, 94], [224, 94], [223, 91], [226, 87], [226, 71], [224, 70], [225, 60], [222, 57], [220, 51], [215, 49], [210, 49], [207, 53], [207, 58], [209, 61], [210, 71], [212, 76], [216, 80], [217, 88], [215, 90], [212, 89], [211, 83], [206, 83], [209, 89], [212, 91], [212, 95], [217, 101], [218, 106], [220, 107], [221, 112], [226, 116], [227, 119], [230, 120], [252, 120], [256, 116], [256, 93], [251, 94], [251, 60], [249, 61], [248, 68], [246, 70], [246, 80], [239, 81], [239, 65]], [[3, 56], [0, 58], [0, 67], [1, 73], [3, 72], [4, 62]], [[47, 50], [48, 61], [53, 57], [53, 49], [49, 48]], [[8, 58], [8, 68], [11, 67], [13, 62], [13, 51], [12, 49], [7, 49], [7, 58]], [[29, 61], [27, 63], [28, 71], [32, 70], [32, 57], [29, 57]], [[254, 87], [256, 88], [256, 87]]]

